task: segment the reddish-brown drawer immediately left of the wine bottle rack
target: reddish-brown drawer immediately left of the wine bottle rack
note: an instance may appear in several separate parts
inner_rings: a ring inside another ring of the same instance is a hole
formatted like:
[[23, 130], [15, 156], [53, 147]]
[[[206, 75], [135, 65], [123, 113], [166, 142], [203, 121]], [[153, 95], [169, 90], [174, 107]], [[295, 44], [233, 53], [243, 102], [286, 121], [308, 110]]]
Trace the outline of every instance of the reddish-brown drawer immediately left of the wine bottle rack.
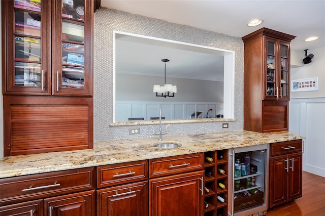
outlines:
[[149, 178], [179, 174], [203, 168], [203, 153], [150, 159]]

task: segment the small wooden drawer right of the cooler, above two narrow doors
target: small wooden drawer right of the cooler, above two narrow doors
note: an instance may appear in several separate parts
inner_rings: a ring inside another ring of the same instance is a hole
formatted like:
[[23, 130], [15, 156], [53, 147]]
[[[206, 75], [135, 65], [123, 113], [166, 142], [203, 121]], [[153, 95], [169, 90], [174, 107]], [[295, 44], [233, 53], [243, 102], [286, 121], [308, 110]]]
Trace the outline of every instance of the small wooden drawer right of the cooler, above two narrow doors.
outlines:
[[302, 140], [270, 144], [270, 156], [302, 152]]

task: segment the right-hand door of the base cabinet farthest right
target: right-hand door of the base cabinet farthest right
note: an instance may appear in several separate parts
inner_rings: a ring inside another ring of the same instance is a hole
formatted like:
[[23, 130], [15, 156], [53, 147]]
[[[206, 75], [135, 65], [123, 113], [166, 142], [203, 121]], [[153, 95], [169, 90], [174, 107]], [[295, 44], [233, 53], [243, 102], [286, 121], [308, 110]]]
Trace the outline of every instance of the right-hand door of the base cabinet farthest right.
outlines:
[[302, 153], [289, 154], [288, 201], [302, 196]]

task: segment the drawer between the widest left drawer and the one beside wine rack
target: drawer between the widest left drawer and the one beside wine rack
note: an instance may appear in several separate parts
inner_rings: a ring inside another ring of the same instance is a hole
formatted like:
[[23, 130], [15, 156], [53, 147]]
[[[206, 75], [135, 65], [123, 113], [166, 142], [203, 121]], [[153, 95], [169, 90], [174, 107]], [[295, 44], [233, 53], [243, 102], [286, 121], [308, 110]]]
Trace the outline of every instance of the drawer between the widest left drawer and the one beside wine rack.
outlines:
[[103, 188], [147, 179], [147, 160], [97, 167], [97, 188]]

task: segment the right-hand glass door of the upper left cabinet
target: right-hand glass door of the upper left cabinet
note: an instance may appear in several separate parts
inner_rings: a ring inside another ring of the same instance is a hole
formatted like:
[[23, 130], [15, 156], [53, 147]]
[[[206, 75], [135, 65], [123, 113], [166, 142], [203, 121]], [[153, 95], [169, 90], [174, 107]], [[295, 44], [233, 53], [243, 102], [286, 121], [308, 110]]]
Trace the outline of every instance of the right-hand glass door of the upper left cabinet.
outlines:
[[53, 95], [92, 94], [92, 5], [84, 0], [55, 1], [56, 32]]

